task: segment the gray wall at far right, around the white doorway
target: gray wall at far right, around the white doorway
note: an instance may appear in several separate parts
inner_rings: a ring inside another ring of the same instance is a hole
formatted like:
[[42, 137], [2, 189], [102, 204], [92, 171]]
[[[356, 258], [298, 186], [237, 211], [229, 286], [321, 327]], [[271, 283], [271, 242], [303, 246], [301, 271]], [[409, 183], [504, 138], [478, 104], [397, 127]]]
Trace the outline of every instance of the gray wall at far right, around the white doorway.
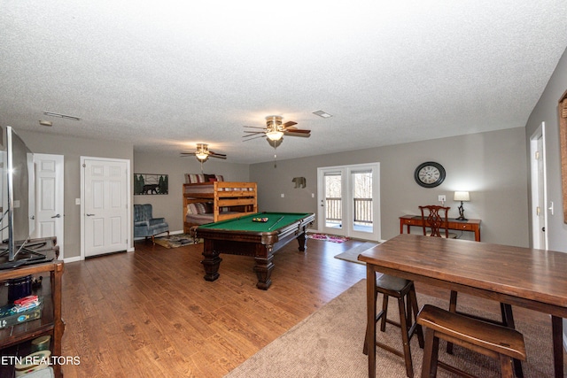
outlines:
[[[540, 101], [533, 108], [525, 126], [525, 139], [529, 141], [541, 122], [545, 122], [548, 202], [553, 201], [555, 207], [554, 214], [548, 212], [548, 248], [567, 252], [567, 225], [563, 223], [561, 151], [557, 109], [559, 98], [565, 90], [567, 90], [567, 52], [563, 53], [563, 57], [555, 68], [555, 73], [549, 79], [548, 86], [541, 95]], [[529, 166], [529, 164], [529, 161], [527, 161], [526, 166]]]

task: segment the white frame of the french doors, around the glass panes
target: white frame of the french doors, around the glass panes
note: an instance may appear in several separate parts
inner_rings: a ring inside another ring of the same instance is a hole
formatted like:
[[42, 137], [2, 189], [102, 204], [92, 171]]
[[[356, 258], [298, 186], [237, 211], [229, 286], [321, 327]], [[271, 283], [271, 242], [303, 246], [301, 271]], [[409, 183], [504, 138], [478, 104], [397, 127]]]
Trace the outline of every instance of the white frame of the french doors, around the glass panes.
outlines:
[[[372, 170], [372, 211], [373, 211], [373, 225], [372, 233], [360, 233], [353, 230], [353, 183], [351, 182], [352, 174], [361, 170]], [[349, 237], [358, 237], [362, 239], [379, 241], [381, 238], [381, 225], [380, 225], [380, 163], [367, 163], [367, 164], [354, 164], [349, 166], [323, 166], [317, 168], [317, 228], [322, 232], [325, 231], [325, 182], [324, 175], [326, 172], [340, 172], [341, 173], [341, 195], [342, 195], [342, 228], [336, 230], [338, 235], [345, 235]], [[334, 229], [333, 229], [334, 230]]]

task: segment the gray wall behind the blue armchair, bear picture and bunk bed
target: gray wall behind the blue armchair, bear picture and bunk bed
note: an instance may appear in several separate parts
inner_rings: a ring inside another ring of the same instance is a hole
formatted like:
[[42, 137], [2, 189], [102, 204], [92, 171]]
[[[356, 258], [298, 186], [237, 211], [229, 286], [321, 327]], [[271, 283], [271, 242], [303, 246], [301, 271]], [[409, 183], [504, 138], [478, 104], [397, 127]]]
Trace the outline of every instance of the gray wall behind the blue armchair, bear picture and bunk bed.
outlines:
[[[230, 160], [209, 158], [203, 163], [206, 174], [222, 174], [225, 181], [249, 181], [248, 165], [232, 164]], [[183, 231], [184, 174], [200, 174], [201, 165], [195, 157], [167, 157], [160, 154], [134, 153], [133, 174], [168, 174], [167, 195], [134, 196], [134, 204], [151, 204], [153, 216], [164, 217], [170, 232]]]

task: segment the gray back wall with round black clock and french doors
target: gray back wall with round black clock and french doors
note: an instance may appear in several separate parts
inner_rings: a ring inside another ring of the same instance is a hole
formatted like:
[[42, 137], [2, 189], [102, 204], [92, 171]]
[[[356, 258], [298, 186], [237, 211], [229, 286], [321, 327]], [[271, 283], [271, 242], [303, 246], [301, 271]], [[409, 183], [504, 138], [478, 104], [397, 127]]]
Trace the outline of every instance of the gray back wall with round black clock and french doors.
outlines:
[[[447, 171], [446, 180], [434, 189], [418, 186], [413, 177], [416, 166], [429, 160], [439, 162]], [[250, 167], [250, 179], [258, 182], [261, 211], [316, 213], [317, 167], [379, 162], [382, 239], [400, 233], [401, 215], [417, 213], [420, 204], [440, 204], [437, 199], [441, 194], [447, 196], [450, 216], [458, 217], [459, 203], [453, 201], [453, 192], [469, 190], [465, 215], [482, 220], [484, 242], [527, 246], [525, 161], [525, 131], [524, 127], [517, 127], [282, 160], [276, 168], [273, 162], [254, 164]], [[306, 189], [293, 189], [291, 180], [297, 176], [306, 177]], [[315, 193], [315, 198], [311, 193]], [[470, 234], [464, 233], [463, 238], [472, 239]]]

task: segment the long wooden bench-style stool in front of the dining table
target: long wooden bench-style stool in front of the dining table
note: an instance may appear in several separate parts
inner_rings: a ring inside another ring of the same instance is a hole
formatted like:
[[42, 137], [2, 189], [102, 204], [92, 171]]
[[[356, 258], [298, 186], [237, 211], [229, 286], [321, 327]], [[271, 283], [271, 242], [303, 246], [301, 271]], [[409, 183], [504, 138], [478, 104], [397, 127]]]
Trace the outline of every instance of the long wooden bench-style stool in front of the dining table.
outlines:
[[433, 305], [424, 305], [417, 323], [425, 327], [422, 378], [435, 377], [437, 366], [470, 376], [454, 366], [438, 361], [439, 339], [500, 360], [501, 376], [514, 376], [513, 359], [525, 360], [524, 336], [516, 329], [475, 320]]

